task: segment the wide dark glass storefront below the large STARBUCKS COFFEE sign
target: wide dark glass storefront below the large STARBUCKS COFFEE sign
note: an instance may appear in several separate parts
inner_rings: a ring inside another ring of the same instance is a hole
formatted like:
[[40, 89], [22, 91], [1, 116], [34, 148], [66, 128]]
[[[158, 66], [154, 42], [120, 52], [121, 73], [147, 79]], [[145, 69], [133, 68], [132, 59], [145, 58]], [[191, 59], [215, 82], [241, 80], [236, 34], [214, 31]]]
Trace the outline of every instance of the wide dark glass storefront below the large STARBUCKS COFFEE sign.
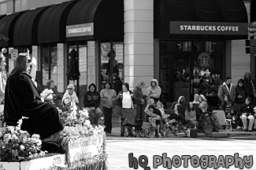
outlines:
[[224, 42], [162, 41], [160, 47], [162, 99], [188, 101], [203, 94], [217, 105], [224, 75]]

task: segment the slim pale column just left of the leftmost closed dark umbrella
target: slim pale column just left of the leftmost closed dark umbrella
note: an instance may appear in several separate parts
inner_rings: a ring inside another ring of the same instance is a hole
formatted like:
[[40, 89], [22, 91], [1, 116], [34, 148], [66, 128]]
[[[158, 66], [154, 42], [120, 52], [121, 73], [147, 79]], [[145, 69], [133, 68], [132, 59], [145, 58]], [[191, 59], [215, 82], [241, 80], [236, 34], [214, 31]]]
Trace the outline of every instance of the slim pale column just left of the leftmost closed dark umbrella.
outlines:
[[65, 57], [66, 57], [65, 44], [57, 44], [57, 85], [58, 92], [65, 92]]

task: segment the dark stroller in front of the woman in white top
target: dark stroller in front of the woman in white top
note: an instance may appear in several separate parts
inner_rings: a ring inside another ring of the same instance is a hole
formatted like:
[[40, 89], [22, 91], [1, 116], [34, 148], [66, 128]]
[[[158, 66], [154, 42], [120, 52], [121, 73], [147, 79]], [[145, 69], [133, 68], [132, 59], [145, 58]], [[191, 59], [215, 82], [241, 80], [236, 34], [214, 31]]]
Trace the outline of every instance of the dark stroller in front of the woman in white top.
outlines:
[[142, 125], [135, 121], [136, 109], [122, 110], [121, 136], [143, 136]]

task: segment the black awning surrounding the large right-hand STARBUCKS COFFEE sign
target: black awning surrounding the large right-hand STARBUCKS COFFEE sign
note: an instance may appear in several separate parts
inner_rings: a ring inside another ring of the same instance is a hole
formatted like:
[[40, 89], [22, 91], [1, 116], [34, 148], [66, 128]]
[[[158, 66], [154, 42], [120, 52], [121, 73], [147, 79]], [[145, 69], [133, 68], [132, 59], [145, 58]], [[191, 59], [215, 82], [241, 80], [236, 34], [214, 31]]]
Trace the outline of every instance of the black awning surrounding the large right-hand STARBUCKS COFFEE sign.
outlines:
[[172, 34], [172, 21], [247, 24], [247, 9], [243, 0], [155, 0], [154, 38], [247, 38], [245, 34]]

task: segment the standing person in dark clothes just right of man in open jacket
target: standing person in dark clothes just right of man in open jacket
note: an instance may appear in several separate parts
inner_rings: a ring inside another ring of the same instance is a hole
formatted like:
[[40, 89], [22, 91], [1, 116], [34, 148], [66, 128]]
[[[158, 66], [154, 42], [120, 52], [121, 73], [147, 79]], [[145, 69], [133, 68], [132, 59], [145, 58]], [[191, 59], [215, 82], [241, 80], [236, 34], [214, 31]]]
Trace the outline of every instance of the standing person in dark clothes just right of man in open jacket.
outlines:
[[236, 97], [235, 97], [235, 109], [236, 109], [236, 128], [242, 127], [242, 120], [240, 118], [241, 112], [240, 107], [243, 103], [245, 103], [245, 99], [247, 98], [247, 89], [244, 86], [244, 80], [243, 78], [240, 78], [239, 81], [237, 81], [236, 85]]

